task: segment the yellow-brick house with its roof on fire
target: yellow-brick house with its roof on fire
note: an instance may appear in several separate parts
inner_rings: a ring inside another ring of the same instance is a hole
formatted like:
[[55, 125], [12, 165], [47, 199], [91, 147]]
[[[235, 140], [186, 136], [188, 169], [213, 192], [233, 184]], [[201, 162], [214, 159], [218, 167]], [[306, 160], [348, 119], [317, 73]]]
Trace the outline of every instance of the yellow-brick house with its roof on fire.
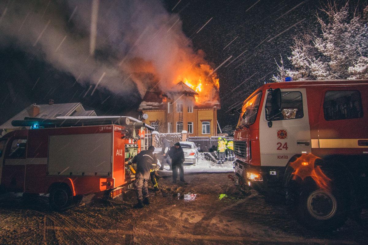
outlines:
[[184, 81], [178, 82], [170, 92], [158, 88], [147, 91], [138, 108], [144, 122], [161, 133], [186, 130], [188, 136], [216, 136], [217, 110], [220, 109], [216, 84], [202, 85], [199, 80], [194, 86]]

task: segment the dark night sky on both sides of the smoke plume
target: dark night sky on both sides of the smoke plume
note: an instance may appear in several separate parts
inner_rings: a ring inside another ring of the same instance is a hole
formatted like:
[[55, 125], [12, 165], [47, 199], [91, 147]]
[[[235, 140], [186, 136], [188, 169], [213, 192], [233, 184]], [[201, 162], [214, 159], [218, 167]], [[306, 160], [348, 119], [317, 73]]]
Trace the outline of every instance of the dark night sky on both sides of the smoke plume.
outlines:
[[[213, 68], [232, 55], [217, 70], [221, 126], [236, 123], [237, 116], [229, 115], [230, 108], [240, 107], [241, 101], [276, 74], [274, 59], [279, 61], [281, 54], [287, 60], [293, 37], [318, 32], [316, 11], [323, 4], [318, 0], [178, 2], [167, 0], [162, 4], [168, 12], [179, 14], [194, 50], [203, 50]], [[350, 6], [354, 3], [350, 1]], [[8, 1], [0, 1], [0, 14], [4, 6]], [[139, 93], [122, 96], [101, 87], [93, 96], [84, 97], [88, 83], [75, 83], [75, 76], [54, 68], [42, 53], [34, 55], [14, 43], [0, 47], [0, 68], [0, 123], [31, 103], [46, 104], [50, 98], [55, 103], [82, 102], [98, 115], [138, 115]]]

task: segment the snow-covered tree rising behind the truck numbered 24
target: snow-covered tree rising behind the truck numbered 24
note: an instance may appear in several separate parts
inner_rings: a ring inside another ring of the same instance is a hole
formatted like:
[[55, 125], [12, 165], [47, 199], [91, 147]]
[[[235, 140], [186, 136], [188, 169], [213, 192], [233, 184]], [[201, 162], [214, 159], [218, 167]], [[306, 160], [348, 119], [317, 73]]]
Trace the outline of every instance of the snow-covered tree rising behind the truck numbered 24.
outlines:
[[342, 7], [329, 2], [317, 14], [320, 35], [305, 34], [295, 38], [288, 57], [293, 68], [285, 68], [281, 58], [277, 65], [275, 82], [286, 76], [293, 80], [367, 79], [368, 78], [368, 5], [362, 13], [355, 9], [349, 14], [349, 5]]

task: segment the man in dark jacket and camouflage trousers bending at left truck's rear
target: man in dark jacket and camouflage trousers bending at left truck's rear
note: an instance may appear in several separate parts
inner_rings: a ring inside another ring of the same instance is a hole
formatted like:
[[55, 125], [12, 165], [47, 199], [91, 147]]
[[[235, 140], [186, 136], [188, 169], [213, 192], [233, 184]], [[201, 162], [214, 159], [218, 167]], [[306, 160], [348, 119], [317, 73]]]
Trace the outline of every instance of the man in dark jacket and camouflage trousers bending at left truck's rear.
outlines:
[[157, 154], [153, 154], [153, 151], [155, 151], [155, 147], [151, 145], [148, 150], [139, 152], [131, 161], [131, 163], [137, 163], [134, 187], [138, 203], [134, 208], [143, 208], [144, 205], [149, 205], [148, 179], [151, 176], [150, 170], [154, 169], [157, 164]]

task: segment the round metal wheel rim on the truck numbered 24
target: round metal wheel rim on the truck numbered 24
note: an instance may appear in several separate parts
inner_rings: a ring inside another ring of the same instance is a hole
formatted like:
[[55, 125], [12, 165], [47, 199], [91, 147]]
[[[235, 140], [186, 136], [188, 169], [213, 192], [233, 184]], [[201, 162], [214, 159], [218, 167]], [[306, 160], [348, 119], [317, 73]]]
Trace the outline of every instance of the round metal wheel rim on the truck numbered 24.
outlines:
[[328, 191], [316, 190], [307, 199], [308, 212], [318, 220], [332, 218], [337, 210], [336, 198]]

